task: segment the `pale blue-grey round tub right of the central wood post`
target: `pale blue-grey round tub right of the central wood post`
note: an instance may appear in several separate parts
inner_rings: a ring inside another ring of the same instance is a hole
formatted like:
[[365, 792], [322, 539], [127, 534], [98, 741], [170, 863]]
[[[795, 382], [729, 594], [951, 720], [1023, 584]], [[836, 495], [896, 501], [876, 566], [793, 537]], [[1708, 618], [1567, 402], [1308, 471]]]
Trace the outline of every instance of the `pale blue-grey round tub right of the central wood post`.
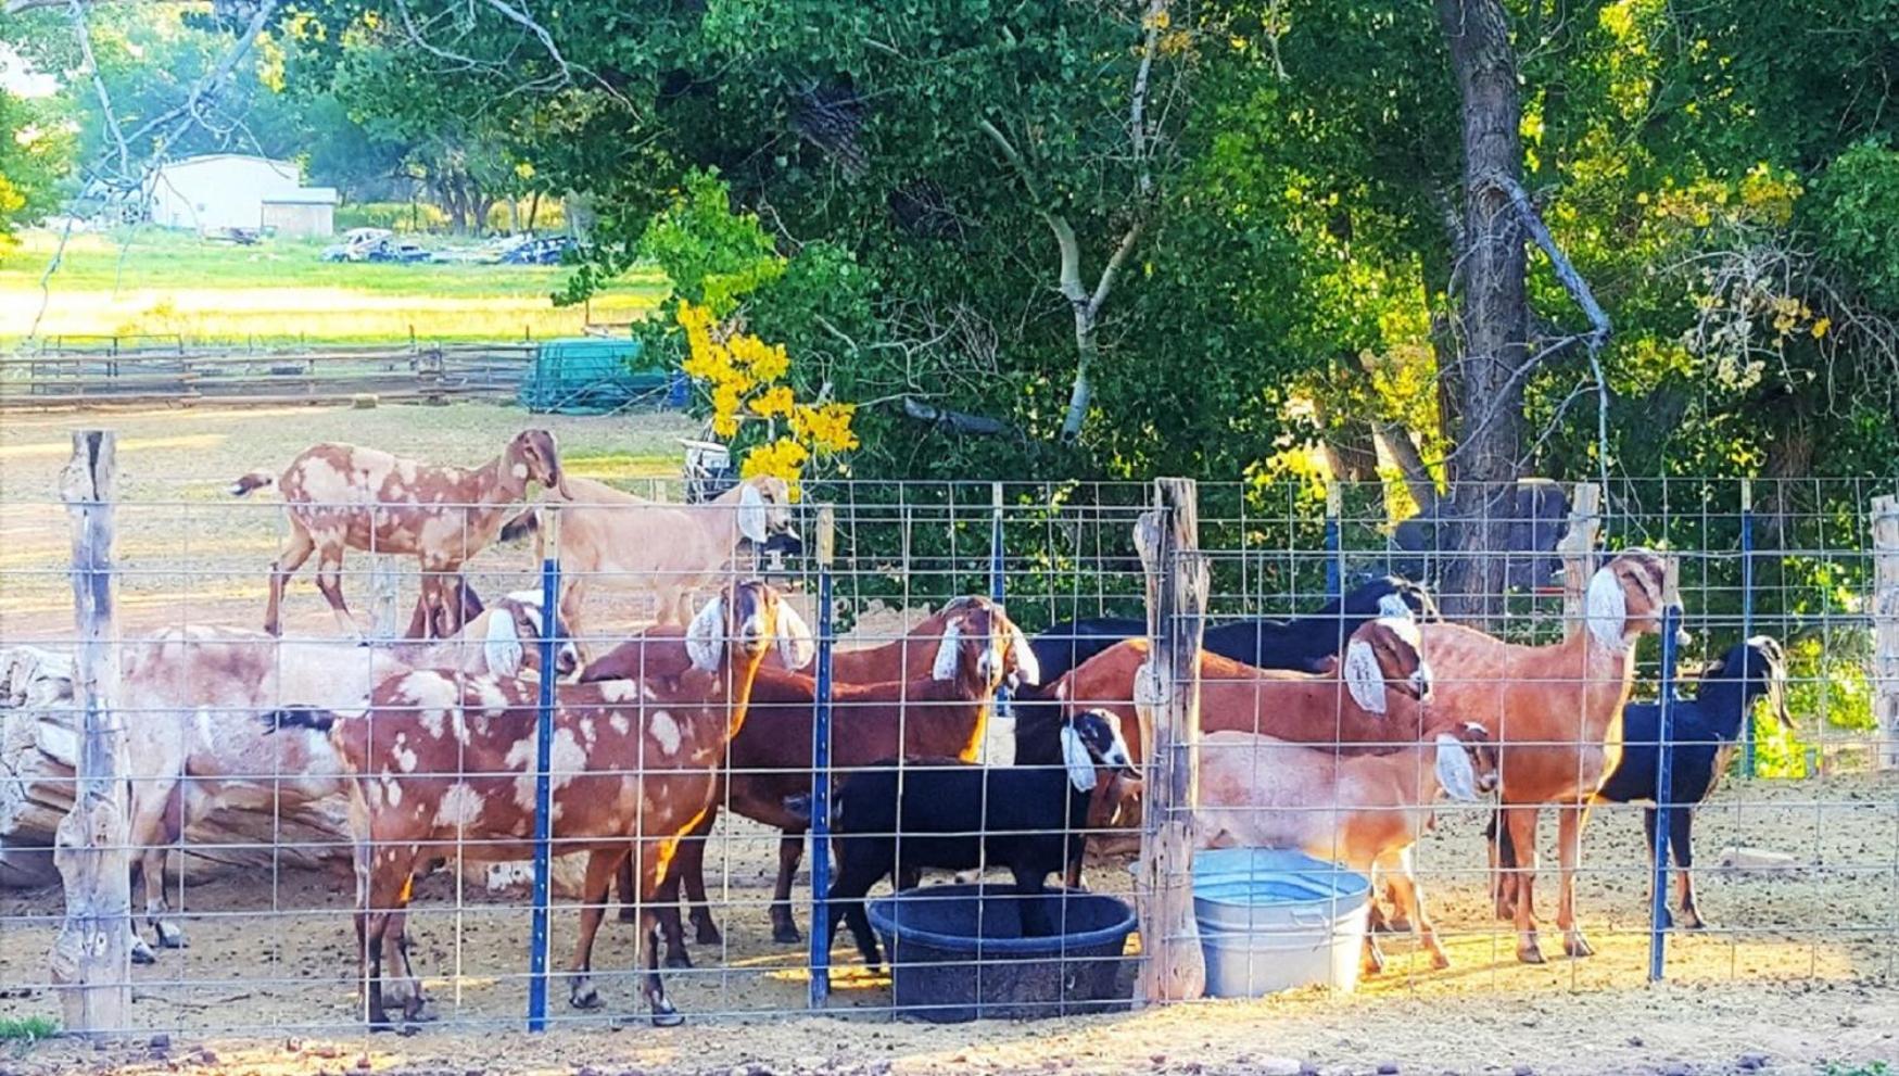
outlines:
[[1369, 898], [1369, 879], [1303, 852], [1194, 852], [1193, 905], [1208, 994], [1257, 998], [1308, 985], [1354, 991]]

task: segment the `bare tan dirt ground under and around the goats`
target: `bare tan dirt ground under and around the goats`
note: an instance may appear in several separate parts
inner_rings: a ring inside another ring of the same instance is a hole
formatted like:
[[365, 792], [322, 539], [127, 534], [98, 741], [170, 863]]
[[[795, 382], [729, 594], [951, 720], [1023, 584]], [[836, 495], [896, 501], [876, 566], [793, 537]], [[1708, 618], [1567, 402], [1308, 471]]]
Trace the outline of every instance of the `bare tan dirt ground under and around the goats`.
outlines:
[[[477, 463], [526, 416], [511, 408], [380, 408], [370, 412], [163, 412], [148, 416], [0, 417], [0, 640], [68, 630], [66, 528], [53, 478], [66, 429], [114, 425], [122, 495], [171, 499], [125, 510], [120, 526], [122, 624], [127, 632], [182, 617], [251, 624], [262, 611], [264, 566], [279, 526], [275, 501], [228, 510], [224, 484], [275, 467], [321, 438], [403, 446]], [[670, 423], [670, 425], [668, 425]], [[672, 419], [553, 419], [570, 454], [676, 459]], [[674, 429], [680, 427], [680, 429]], [[496, 552], [477, 579], [526, 571], [526, 554]], [[359, 584], [361, 588], [361, 584]], [[308, 581], [292, 626], [329, 632]], [[1578, 913], [1597, 955], [1529, 968], [1508, 924], [1491, 918], [1479, 829], [1483, 812], [1447, 807], [1417, 850], [1419, 873], [1455, 966], [1434, 972], [1409, 939], [1386, 945], [1390, 968], [1352, 996], [1301, 991], [1257, 1002], [1029, 1023], [931, 1027], [889, 1013], [889, 979], [845, 970], [826, 1015], [805, 1008], [803, 947], [769, 939], [763, 901], [775, 835], [722, 824], [708, 854], [722, 947], [695, 947], [693, 972], [670, 972], [687, 1025], [655, 1030], [634, 1017], [634, 983], [598, 974], [606, 1013], [577, 1015], [551, 983], [556, 1027], [518, 1030], [526, 1000], [526, 901], [456, 892], [450, 875], [422, 884], [410, 932], [439, 1021], [420, 1034], [367, 1036], [353, 1004], [349, 884], [325, 873], [194, 877], [186, 882], [186, 951], [139, 968], [141, 1032], [106, 1049], [51, 1042], [0, 1046], [0, 1076], [53, 1072], [201, 1072], [203, 1076], [376, 1072], [632, 1072], [763, 1076], [765, 1072], [1878, 1072], [1899, 1061], [1899, 778], [1838, 774], [1812, 782], [1728, 782], [1702, 812], [1702, 907], [1717, 928], [1669, 937], [1669, 981], [1646, 983], [1648, 913], [1641, 816], [1599, 810], [1586, 835]], [[1553, 824], [1544, 824], [1553, 863]], [[1766, 873], [1720, 869], [1724, 846], [1783, 852]], [[809, 862], [807, 862], [809, 867]], [[1119, 863], [1090, 884], [1126, 892]], [[1544, 945], [1553, 877], [1538, 890]], [[460, 900], [458, 900], [460, 896]], [[809, 877], [796, 890], [799, 918]], [[460, 907], [458, 907], [460, 905]], [[44, 989], [57, 890], [0, 892], [0, 1021], [57, 1017]], [[575, 915], [555, 915], [555, 968]], [[594, 966], [625, 970], [632, 930], [608, 924]], [[152, 1040], [150, 1036], [161, 1036]], [[152, 1042], [163, 1042], [154, 1048]], [[1829, 1068], [1836, 1065], [1836, 1068]]]

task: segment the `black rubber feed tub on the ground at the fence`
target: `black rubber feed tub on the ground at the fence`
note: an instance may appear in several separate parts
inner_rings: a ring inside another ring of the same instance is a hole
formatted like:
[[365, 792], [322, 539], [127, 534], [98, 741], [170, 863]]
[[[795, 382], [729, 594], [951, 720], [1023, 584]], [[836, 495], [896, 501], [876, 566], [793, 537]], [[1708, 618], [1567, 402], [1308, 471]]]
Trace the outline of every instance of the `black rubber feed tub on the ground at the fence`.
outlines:
[[[1022, 903], [1039, 900], [1056, 934], [1022, 936]], [[1033, 1019], [1128, 1004], [1122, 981], [1134, 909], [1111, 896], [1014, 886], [923, 886], [870, 901], [889, 949], [891, 1002], [934, 1023]]]

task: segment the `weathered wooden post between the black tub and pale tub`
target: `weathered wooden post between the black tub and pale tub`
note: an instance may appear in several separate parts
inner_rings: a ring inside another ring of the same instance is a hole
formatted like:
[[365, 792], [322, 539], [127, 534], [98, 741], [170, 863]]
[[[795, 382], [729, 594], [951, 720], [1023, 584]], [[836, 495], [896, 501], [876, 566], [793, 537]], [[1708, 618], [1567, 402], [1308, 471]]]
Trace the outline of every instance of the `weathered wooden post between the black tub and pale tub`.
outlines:
[[1134, 881], [1145, 956], [1136, 996], [1145, 1004], [1183, 1002], [1206, 993], [1206, 956], [1193, 915], [1193, 816], [1200, 803], [1200, 640], [1208, 567], [1200, 554], [1193, 480], [1155, 482], [1155, 510], [1141, 514], [1134, 543], [1147, 569], [1147, 632], [1153, 638], [1153, 655], [1134, 689], [1141, 725], [1151, 731], [1143, 751], [1145, 814]]

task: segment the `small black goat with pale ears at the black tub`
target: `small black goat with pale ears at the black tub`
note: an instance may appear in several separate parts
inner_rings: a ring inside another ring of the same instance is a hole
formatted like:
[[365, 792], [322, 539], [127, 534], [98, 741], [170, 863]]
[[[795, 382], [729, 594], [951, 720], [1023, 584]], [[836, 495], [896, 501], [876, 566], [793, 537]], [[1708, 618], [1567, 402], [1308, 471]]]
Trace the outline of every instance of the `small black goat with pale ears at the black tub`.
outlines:
[[826, 949], [843, 918], [864, 962], [877, 968], [883, 956], [864, 913], [870, 886], [923, 867], [963, 871], [984, 862], [1008, 867], [1016, 896], [1031, 898], [1020, 901], [1024, 937], [1054, 934], [1037, 898], [1050, 873], [1081, 865], [1098, 770], [1136, 772], [1120, 721], [1105, 710], [1065, 717], [1060, 736], [1062, 767], [891, 757], [845, 780], [832, 824], [837, 879], [828, 894]]

